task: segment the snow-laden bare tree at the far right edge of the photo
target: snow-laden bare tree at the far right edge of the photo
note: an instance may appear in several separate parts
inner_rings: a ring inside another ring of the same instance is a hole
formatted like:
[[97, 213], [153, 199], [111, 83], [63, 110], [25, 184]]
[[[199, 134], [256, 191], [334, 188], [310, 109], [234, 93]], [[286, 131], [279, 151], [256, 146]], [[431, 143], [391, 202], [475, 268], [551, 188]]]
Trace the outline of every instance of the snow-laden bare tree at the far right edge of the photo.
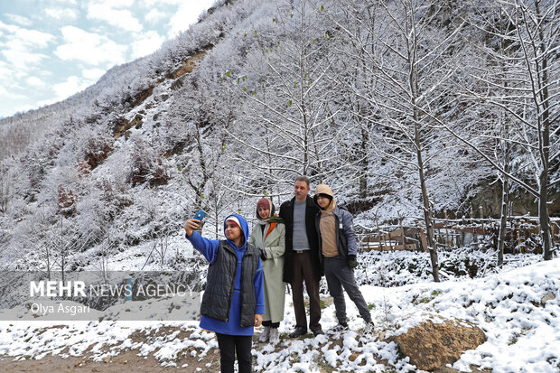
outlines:
[[[471, 133], [455, 131], [435, 117], [434, 121], [501, 173], [504, 188], [512, 181], [538, 199], [543, 256], [549, 260], [553, 246], [548, 194], [550, 188], [560, 182], [560, 179], [551, 180], [560, 163], [559, 86], [557, 79], [551, 79], [560, 70], [556, 56], [560, 42], [560, 10], [557, 2], [539, 0], [499, 1], [495, 8], [482, 9], [480, 19], [472, 24], [480, 27], [490, 40], [481, 51], [489, 66], [498, 69], [474, 69], [471, 78], [478, 80], [478, 84], [465, 89], [464, 102], [470, 100], [474, 106], [483, 102], [505, 113], [502, 133], [494, 135], [504, 144], [502, 162], [477, 144], [478, 140]], [[479, 123], [487, 118], [481, 116]], [[515, 168], [511, 167], [510, 154], [516, 155]], [[500, 242], [505, 234], [506, 201], [506, 198], [502, 200]]]

